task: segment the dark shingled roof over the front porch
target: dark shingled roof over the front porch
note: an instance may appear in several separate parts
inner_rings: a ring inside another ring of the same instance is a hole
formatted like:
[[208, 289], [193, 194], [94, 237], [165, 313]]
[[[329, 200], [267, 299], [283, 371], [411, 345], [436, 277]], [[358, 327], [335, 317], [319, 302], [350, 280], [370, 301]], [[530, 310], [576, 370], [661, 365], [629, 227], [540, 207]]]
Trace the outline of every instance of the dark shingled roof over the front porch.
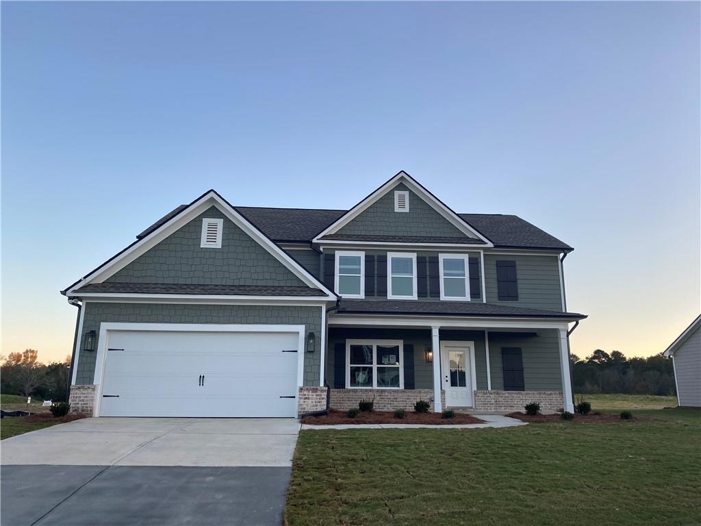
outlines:
[[339, 314], [397, 314], [416, 316], [487, 316], [498, 318], [555, 318], [582, 320], [576, 312], [546, 311], [479, 302], [417, 302], [406, 300], [341, 299]]

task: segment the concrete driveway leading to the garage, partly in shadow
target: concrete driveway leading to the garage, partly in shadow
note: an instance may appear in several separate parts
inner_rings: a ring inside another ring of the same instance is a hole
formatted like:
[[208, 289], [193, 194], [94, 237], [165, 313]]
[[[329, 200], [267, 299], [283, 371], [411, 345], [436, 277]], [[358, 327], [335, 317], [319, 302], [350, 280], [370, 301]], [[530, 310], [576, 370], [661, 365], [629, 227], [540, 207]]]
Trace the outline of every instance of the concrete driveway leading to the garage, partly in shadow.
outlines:
[[299, 427], [95, 418], [8, 438], [0, 524], [280, 525]]

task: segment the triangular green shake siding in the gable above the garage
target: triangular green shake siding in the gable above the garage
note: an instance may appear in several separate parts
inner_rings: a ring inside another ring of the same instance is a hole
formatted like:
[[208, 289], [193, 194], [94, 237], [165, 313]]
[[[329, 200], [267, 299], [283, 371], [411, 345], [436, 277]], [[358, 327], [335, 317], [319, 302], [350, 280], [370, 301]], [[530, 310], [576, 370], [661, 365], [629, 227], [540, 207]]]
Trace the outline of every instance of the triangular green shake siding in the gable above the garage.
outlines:
[[[222, 248], [200, 248], [202, 220], [224, 219]], [[115, 283], [304, 286], [215, 206], [108, 278]]]

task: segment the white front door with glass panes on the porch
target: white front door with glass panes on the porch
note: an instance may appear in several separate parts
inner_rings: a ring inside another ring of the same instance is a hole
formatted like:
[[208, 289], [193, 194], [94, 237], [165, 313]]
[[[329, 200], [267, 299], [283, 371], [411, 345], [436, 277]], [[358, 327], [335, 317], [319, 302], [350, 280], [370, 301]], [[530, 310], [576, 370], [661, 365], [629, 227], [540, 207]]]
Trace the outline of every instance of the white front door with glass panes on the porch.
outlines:
[[472, 342], [441, 342], [441, 372], [447, 407], [472, 407], [473, 351]]

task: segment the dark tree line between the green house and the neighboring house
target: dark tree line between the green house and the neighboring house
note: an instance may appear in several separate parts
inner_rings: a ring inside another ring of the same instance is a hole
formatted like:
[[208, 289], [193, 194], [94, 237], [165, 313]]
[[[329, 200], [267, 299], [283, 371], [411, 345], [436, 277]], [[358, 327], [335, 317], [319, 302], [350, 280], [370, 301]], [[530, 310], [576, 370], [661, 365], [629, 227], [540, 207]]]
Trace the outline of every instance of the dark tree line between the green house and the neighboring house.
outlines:
[[571, 354], [574, 392], [676, 395], [672, 360], [662, 353], [648, 358], [626, 358], [597, 349], [581, 360]]

